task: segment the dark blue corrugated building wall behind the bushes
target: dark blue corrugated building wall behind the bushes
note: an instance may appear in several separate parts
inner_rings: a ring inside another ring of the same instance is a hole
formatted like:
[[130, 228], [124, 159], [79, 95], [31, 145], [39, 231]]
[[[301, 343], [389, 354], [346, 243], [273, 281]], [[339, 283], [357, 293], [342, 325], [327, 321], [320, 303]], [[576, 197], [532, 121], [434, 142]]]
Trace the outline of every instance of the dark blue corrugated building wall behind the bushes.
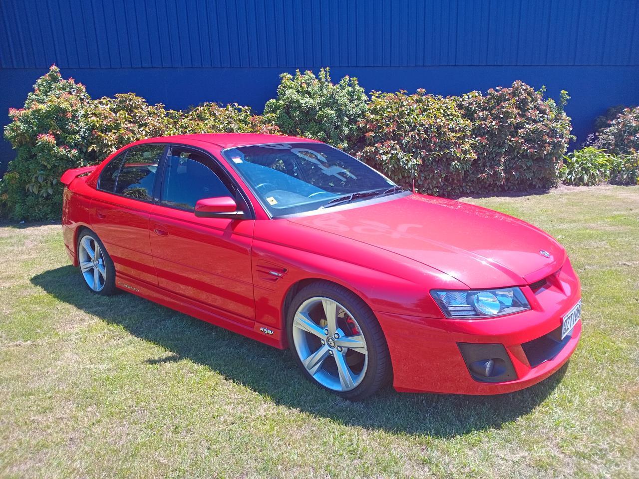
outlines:
[[[173, 108], [261, 110], [295, 68], [441, 95], [521, 79], [569, 92], [580, 140], [607, 107], [639, 103], [636, 0], [1, 0], [0, 21], [4, 112], [52, 63], [91, 96]], [[4, 142], [0, 170], [11, 156]]]

